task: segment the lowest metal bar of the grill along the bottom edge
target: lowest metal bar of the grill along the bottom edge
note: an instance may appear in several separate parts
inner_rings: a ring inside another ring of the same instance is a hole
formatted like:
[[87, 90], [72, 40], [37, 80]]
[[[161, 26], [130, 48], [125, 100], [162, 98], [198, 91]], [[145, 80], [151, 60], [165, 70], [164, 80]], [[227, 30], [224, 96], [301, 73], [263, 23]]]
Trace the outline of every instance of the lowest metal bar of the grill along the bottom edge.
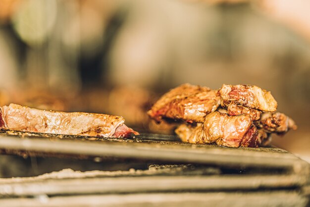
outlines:
[[0, 200], [1, 207], [306, 207], [296, 191], [46, 195]]

